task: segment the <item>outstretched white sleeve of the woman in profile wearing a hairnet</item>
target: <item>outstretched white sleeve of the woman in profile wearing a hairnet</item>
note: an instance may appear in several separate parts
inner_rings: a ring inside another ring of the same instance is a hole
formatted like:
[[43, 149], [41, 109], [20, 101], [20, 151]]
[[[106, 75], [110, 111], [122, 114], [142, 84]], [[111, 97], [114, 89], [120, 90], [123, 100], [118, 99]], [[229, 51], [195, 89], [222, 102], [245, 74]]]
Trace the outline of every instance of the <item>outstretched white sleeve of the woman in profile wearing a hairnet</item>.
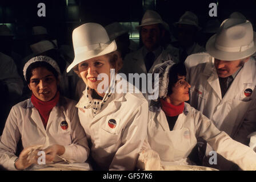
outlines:
[[205, 139], [214, 151], [227, 160], [236, 163], [243, 170], [256, 170], [256, 153], [229, 137], [224, 131], [219, 131], [200, 111], [193, 109], [197, 137]]

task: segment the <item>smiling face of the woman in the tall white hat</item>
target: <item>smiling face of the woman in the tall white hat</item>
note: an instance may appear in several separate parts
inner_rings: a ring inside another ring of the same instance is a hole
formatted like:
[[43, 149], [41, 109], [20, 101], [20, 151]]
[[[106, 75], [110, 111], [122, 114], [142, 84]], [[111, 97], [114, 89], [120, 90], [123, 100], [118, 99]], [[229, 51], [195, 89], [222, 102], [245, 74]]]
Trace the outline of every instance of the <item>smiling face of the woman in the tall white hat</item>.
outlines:
[[[96, 92], [98, 84], [104, 80], [104, 78], [97, 80], [99, 74], [105, 73], [109, 77], [108, 84], [110, 84], [110, 69], [113, 68], [110, 64], [110, 57], [109, 55], [102, 55], [78, 64], [78, 72], [83, 81], [89, 88], [94, 89]], [[99, 96], [102, 96], [102, 94], [99, 94]]]

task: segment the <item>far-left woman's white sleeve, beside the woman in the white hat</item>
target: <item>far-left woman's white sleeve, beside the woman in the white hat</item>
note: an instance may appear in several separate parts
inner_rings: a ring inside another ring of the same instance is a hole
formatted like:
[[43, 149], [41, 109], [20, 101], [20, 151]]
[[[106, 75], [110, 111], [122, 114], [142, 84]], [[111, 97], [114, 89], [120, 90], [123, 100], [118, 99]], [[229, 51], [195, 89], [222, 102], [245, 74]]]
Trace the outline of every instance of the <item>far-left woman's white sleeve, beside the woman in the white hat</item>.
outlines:
[[87, 160], [90, 149], [88, 147], [85, 130], [83, 130], [79, 122], [78, 111], [74, 105], [70, 109], [70, 125], [72, 144], [64, 146], [65, 152], [62, 158], [65, 158], [70, 163], [83, 163]]

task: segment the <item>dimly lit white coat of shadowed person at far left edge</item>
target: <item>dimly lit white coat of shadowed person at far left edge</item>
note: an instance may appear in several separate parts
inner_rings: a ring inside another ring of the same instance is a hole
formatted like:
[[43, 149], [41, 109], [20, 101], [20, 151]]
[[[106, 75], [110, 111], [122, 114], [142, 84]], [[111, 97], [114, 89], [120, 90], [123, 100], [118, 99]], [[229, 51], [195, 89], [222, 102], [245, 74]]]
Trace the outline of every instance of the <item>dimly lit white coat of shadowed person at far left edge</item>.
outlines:
[[0, 52], [0, 80], [8, 87], [10, 97], [17, 99], [22, 95], [23, 81], [18, 74], [17, 67], [11, 57]]

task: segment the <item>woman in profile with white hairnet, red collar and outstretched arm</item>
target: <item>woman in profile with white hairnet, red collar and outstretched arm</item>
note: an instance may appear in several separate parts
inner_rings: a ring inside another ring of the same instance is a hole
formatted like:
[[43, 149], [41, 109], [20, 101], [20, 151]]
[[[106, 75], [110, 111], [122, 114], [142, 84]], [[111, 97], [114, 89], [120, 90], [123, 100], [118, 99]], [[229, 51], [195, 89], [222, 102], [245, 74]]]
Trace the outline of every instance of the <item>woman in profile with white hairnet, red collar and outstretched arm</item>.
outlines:
[[161, 160], [158, 169], [193, 164], [187, 157], [197, 144], [197, 138], [202, 137], [215, 152], [243, 170], [256, 169], [256, 153], [251, 148], [219, 131], [200, 111], [185, 103], [189, 100], [190, 85], [183, 64], [167, 61], [157, 65], [153, 73], [159, 73], [159, 98], [149, 107], [148, 137], [144, 146], [147, 150], [141, 153], [139, 162], [144, 162], [147, 168], [157, 169], [157, 165], [147, 163], [152, 156], [157, 160], [156, 151]]

